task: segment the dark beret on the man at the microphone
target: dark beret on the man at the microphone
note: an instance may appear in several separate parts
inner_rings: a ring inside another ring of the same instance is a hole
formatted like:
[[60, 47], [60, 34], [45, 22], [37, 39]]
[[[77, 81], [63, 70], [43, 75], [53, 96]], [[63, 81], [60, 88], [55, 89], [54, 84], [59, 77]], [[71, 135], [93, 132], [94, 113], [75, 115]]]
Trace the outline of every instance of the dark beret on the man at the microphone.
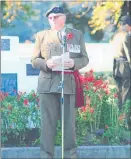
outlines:
[[46, 12], [46, 17], [48, 17], [51, 13], [54, 14], [65, 14], [64, 8], [60, 6], [53, 7]]

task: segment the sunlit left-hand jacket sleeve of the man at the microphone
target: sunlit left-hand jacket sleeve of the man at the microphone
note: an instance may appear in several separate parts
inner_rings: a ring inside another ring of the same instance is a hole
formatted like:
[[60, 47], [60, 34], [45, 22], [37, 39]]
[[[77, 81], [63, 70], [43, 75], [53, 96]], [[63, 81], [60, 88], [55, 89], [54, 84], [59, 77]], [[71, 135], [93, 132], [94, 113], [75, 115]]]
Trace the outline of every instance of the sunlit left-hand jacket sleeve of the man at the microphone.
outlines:
[[37, 33], [33, 56], [31, 58], [32, 67], [40, 69], [44, 72], [49, 72], [51, 70], [47, 67], [46, 60], [41, 57], [41, 42], [42, 40], [40, 40], [39, 34]]

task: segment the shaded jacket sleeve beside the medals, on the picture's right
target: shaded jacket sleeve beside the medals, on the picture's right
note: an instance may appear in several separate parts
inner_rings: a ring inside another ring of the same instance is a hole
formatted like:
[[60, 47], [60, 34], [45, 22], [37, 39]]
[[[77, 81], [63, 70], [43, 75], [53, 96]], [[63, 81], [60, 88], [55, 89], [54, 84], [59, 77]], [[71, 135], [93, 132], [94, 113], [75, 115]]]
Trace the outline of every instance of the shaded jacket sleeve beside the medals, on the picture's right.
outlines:
[[82, 69], [89, 63], [89, 58], [86, 52], [84, 37], [82, 33], [80, 35], [80, 48], [81, 48], [81, 56], [79, 58], [73, 58], [75, 62], [74, 70]]

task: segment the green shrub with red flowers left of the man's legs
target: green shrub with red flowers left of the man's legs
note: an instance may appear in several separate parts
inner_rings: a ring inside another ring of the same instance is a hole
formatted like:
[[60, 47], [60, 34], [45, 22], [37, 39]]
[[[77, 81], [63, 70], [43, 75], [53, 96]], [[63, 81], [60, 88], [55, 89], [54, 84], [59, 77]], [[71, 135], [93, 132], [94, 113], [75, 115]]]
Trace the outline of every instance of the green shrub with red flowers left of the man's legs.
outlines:
[[30, 122], [33, 127], [40, 127], [38, 102], [38, 95], [34, 91], [19, 92], [17, 96], [5, 94], [1, 102], [2, 143], [8, 141], [9, 134], [22, 139], [30, 127]]

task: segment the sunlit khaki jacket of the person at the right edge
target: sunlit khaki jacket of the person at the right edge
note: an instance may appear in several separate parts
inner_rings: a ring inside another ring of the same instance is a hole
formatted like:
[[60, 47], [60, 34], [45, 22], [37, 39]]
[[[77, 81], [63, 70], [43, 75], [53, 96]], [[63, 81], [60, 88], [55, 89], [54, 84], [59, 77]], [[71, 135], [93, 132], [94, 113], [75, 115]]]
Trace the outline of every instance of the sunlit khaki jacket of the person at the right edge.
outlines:
[[[127, 32], [116, 33], [113, 38], [112, 46], [114, 49], [114, 68], [113, 74], [118, 77], [129, 77], [131, 71], [131, 37]], [[125, 59], [121, 59], [124, 57]]]

